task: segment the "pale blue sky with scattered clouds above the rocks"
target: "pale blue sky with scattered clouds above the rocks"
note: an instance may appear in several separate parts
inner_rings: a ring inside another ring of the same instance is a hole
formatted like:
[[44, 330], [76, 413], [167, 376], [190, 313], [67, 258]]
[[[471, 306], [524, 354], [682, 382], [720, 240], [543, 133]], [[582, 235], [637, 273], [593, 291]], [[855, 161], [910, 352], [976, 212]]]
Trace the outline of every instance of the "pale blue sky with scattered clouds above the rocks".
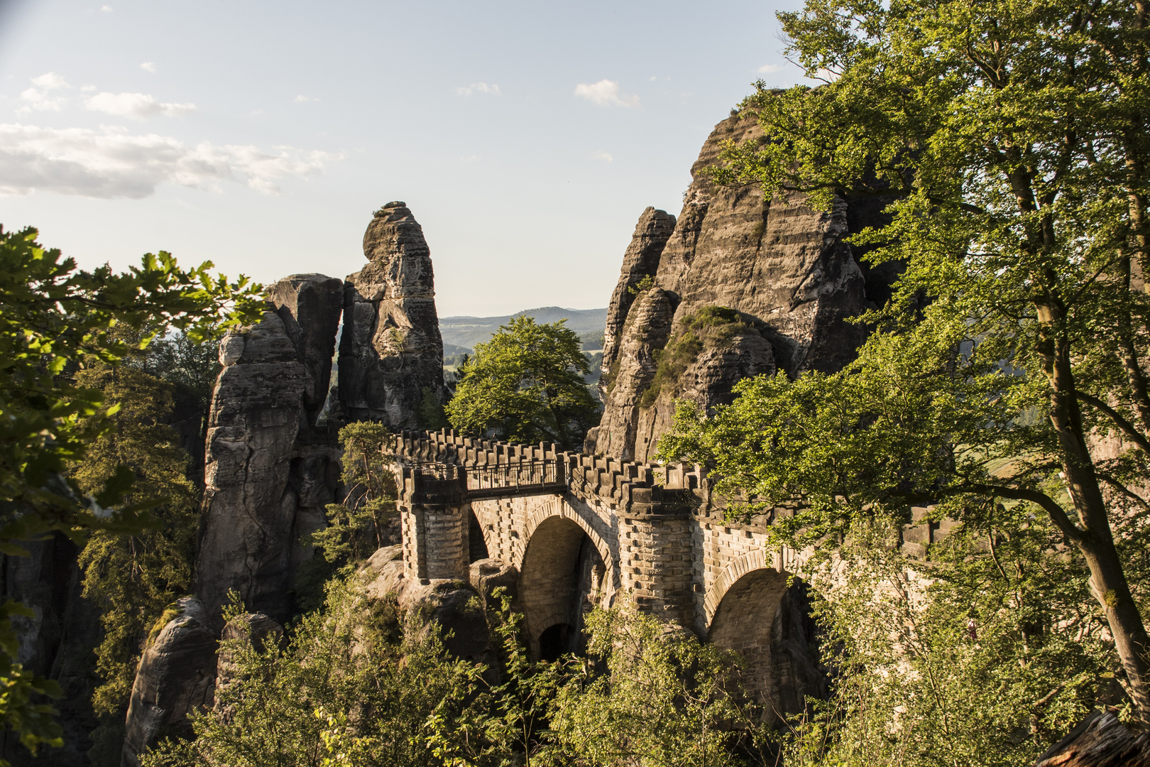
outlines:
[[422, 224], [439, 316], [611, 298], [799, 2], [0, 0], [0, 224], [269, 283]]

